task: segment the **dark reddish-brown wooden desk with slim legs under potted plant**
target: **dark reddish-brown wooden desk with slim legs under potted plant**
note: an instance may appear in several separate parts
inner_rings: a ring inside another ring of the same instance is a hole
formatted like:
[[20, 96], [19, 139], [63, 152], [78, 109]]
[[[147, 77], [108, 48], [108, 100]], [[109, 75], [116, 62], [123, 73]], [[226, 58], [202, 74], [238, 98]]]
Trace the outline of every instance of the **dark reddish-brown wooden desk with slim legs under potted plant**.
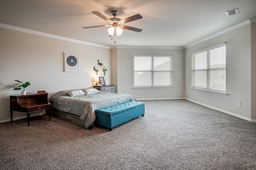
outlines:
[[33, 93], [26, 95], [12, 95], [10, 96], [10, 113], [11, 122], [13, 111], [26, 112], [28, 117], [28, 126], [30, 121], [30, 112], [38, 110], [46, 110], [50, 117], [51, 104], [48, 100], [48, 93]]

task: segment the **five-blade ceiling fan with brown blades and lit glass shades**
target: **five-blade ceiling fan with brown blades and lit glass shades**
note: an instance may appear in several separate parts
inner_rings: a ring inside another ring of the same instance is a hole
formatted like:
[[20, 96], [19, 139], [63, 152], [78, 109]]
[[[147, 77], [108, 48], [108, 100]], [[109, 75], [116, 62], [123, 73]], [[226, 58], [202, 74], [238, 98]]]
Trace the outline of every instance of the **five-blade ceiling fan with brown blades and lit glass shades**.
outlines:
[[118, 14], [118, 12], [116, 10], [111, 11], [111, 13], [114, 16], [114, 18], [107, 18], [106, 16], [104, 16], [103, 14], [101, 14], [100, 12], [97, 12], [97, 11], [93, 11], [92, 13], [95, 14], [96, 16], [102, 18], [103, 20], [107, 21], [108, 25], [98, 25], [98, 26], [91, 26], [91, 27], [83, 27], [84, 29], [96, 28], [96, 27], [109, 27], [109, 26], [111, 26], [108, 29], [108, 34], [109, 34], [110, 37], [121, 35], [122, 32], [123, 32], [122, 29], [128, 29], [128, 30], [136, 31], [136, 32], [141, 32], [142, 31], [142, 29], [124, 25], [125, 23], [141, 19], [142, 16], [140, 14], [136, 14], [134, 16], [131, 16], [131, 17], [128, 17], [128, 18], [126, 18], [124, 20], [121, 20], [119, 18], [116, 18], [116, 15]]

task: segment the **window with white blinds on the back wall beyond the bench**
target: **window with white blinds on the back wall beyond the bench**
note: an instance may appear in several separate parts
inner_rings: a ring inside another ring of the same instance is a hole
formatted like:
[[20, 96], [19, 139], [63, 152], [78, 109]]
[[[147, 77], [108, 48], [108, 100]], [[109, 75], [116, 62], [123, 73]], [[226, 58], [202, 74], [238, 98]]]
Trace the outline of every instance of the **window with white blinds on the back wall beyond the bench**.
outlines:
[[172, 56], [134, 55], [134, 87], [172, 86]]

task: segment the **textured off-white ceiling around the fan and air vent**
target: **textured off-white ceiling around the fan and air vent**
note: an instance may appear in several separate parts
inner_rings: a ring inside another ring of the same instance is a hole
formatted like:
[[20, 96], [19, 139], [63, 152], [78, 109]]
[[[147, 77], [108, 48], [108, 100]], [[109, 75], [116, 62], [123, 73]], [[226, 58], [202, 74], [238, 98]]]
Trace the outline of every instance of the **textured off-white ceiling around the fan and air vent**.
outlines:
[[[112, 10], [121, 20], [140, 14], [125, 25], [142, 32], [124, 29], [114, 43], [108, 27], [82, 28], [107, 24], [92, 11], [112, 18]], [[256, 0], [0, 0], [0, 23], [109, 47], [185, 47], [255, 17]]]

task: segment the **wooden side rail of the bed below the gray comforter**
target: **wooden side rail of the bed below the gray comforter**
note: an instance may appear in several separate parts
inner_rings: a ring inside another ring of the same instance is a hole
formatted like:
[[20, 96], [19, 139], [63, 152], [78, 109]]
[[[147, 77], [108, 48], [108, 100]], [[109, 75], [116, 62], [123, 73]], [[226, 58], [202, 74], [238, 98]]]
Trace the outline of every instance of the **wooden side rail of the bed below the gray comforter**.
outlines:
[[73, 115], [71, 113], [67, 113], [64, 111], [60, 111], [58, 109], [55, 109], [52, 107], [51, 109], [51, 116], [58, 117], [60, 119], [64, 119], [66, 121], [69, 121], [71, 123], [75, 123], [76, 125], [80, 125], [82, 127], [85, 127], [84, 122], [80, 119], [80, 116]]

